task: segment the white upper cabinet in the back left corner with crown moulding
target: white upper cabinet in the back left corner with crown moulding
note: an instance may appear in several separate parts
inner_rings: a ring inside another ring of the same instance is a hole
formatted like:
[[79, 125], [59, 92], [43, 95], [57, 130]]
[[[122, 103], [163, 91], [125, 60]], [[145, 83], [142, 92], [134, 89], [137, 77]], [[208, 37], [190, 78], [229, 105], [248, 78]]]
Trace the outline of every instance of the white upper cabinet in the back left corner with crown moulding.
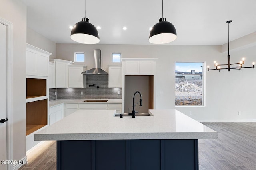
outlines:
[[72, 61], [50, 59], [55, 65], [55, 87], [68, 88], [68, 66], [73, 64]]

